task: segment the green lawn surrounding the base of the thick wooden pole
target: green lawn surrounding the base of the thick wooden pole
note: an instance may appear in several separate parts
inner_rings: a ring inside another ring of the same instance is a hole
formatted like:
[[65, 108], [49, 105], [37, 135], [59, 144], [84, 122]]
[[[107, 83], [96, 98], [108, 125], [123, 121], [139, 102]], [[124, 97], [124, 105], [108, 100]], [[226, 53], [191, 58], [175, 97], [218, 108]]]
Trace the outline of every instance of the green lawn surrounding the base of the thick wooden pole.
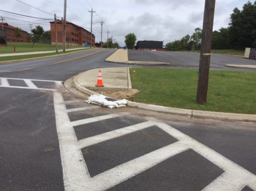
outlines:
[[[135, 70], [136, 72], [134, 72]], [[207, 103], [196, 103], [198, 70], [131, 68], [134, 101], [196, 110], [256, 114], [256, 72], [210, 70]]]

